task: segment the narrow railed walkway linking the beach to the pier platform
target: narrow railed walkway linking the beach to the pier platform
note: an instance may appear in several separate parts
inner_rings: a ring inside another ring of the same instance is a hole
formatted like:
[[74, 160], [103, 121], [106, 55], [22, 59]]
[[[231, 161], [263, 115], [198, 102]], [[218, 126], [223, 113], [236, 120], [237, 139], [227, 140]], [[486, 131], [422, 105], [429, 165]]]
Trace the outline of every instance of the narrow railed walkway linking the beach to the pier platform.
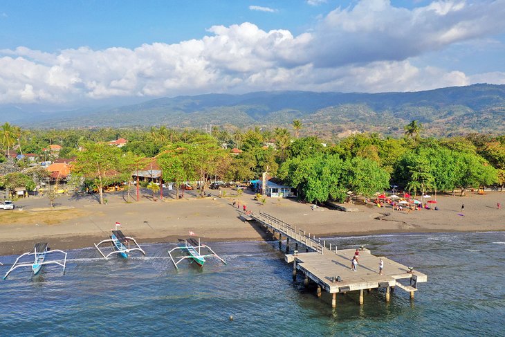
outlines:
[[[320, 254], [324, 254], [325, 251], [328, 253], [332, 251], [331, 244], [329, 244], [329, 248], [327, 248], [325, 241], [323, 241], [321, 244], [321, 239], [315, 239], [315, 235], [311, 237], [311, 233], [307, 235], [304, 230], [300, 228], [296, 229], [295, 226], [292, 226], [291, 224], [288, 224], [281, 219], [277, 219], [272, 215], [259, 211], [259, 213], [252, 213], [251, 216], [272, 230], [277, 231], [280, 234], [295, 240], [296, 242], [299, 242], [303, 246], [306, 246], [306, 248], [309, 248]], [[335, 252], [336, 250], [337, 247], [335, 246]]]

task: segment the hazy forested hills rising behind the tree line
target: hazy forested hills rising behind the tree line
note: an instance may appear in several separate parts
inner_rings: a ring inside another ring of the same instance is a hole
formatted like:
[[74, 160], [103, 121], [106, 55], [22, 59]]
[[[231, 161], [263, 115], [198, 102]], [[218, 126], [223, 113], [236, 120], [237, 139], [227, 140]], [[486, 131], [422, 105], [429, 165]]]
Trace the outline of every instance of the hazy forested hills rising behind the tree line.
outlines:
[[86, 113], [52, 113], [15, 120], [24, 127], [126, 127], [235, 125], [282, 127], [302, 120], [302, 134], [344, 135], [378, 131], [398, 135], [419, 120], [424, 134], [505, 132], [505, 85], [474, 84], [409, 93], [315, 93], [265, 91], [159, 98]]

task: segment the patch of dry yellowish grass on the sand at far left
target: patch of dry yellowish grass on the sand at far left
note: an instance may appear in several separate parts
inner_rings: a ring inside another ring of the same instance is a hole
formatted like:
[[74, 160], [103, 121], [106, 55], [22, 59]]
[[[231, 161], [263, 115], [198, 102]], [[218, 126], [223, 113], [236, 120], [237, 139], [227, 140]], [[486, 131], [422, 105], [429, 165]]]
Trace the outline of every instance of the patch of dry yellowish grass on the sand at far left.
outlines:
[[41, 212], [29, 212], [26, 210], [3, 210], [0, 211], [1, 224], [46, 224], [56, 225], [62, 221], [68, 221], [77, 217], [82, 217], [84, 210], [44, 210]]

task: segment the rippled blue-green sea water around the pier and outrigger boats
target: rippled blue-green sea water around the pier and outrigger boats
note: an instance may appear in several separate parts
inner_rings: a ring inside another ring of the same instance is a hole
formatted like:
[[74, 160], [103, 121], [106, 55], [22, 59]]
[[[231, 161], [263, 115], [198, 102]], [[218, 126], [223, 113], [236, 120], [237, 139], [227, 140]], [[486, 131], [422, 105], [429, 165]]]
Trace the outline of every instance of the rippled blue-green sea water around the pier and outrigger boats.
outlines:
[[[29, 268], [0, 280], [0, 336], [504, 336], [505, 233], [437, 233], [327, 238], [364, 245], [428, 274], [416, 298], [397, 289], [317, 298], [295, 282], [277, 242], [210, 246], [227, 265], [203, 268], [145, 244], [146, 257], [104, 260], [95, 248], [68, 251], [62, 268]], [[53, 247], [57, 249], [57, 247]], [[4, 275], [17, 256], [0, 257]], [[233, 320], [230, 320], [230, 315]]]

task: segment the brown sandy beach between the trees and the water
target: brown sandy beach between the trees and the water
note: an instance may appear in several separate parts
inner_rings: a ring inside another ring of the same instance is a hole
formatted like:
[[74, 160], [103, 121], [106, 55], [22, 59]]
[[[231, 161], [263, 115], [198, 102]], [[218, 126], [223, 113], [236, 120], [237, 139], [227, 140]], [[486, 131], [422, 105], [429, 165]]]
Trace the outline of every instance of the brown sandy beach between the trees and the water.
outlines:
[[107, 194], [107, 205], [98, 204], [95, 195], [62, 196], [54, 210], [48, 208], [44, 197], [21, 199], [15, 202], [15, 210], [0, 211], [0, 255], [26, 252], [41, 241], [59, 249], [93, 246], [107, 238], [116, 221], [138, 242], [176, 242], [190, 231], [206, 241], [268, 239], [259, 226], [239, 219], [242, 207], [233, 207], [233, 199], [245, 203], [247, 210], [267, 212], [318, 237], [505, 230], [505, 210], [497, 209], [497, 203], [505, 203], [505, 192], [439, 195], [439, 210], [412, 212], [364, 205], [351, 206], [358, 212], [313, 210], [310, 203], [295, 199], [268, 198], [261, 204], [250, 191], [238, 197], [227, 190], [226, 198], [210, 192], [213, 196], [205, 199], [196, 198], [192, 191], [186, 192], [184, 199], [174, 200], [167, 191], [163, 201], [156, 202], [146, 192], [140, 201], [131, 203], [125, 202], [125, 192], [115, 192]]

